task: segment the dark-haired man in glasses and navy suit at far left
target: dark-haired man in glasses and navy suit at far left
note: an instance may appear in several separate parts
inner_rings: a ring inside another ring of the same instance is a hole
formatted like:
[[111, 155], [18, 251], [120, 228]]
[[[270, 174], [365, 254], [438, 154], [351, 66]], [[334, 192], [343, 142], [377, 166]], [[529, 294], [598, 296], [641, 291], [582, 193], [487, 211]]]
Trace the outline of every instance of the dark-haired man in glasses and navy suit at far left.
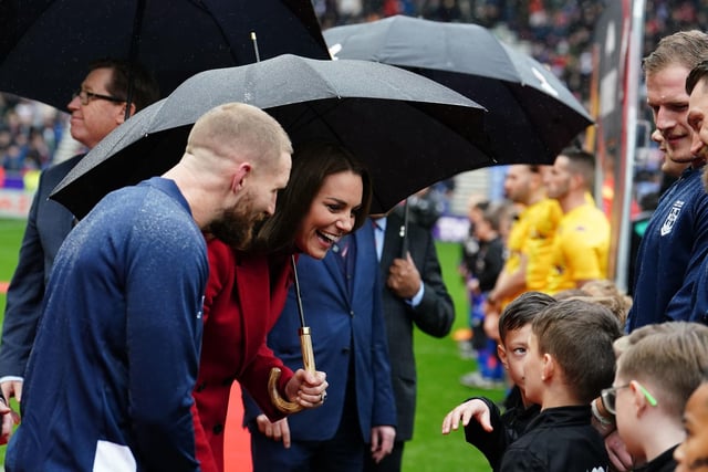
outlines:
[[[133, 76], [133, 101], [126, 102]], [[136, 64], [100, 60], [74, 93], [67, 108], [71, 135], [91, 149], [128, 116], [159, 98], [154, 78]], [[6, 398], [22, 400], [24, 367], [32, 349], [37, 325], [54, 256], [73, 228], [74, 216], [49, 195], [84, 155], [75, 156], [42, 172], [28, 217], [20, 259], [8, 289], [0, 346], [0, 388]]]

